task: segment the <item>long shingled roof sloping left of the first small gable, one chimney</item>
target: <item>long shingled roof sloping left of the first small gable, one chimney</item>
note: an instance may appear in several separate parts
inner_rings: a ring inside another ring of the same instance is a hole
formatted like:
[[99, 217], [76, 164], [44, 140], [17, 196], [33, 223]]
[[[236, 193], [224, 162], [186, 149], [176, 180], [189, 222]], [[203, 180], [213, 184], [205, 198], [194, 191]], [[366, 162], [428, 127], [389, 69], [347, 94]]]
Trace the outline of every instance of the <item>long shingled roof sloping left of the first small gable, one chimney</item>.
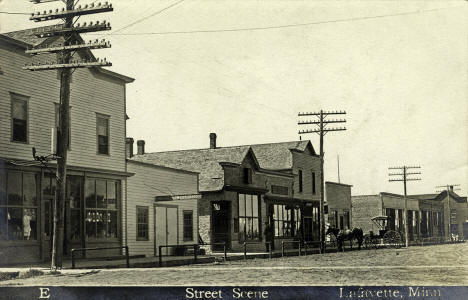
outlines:
[[194, 149], [135, 155], [131, 159], [169, 168], [199, 172], [201, 191], [218, 191], [224, 186], [224, 171], [221, 163], [241, 164], [250, 146]]

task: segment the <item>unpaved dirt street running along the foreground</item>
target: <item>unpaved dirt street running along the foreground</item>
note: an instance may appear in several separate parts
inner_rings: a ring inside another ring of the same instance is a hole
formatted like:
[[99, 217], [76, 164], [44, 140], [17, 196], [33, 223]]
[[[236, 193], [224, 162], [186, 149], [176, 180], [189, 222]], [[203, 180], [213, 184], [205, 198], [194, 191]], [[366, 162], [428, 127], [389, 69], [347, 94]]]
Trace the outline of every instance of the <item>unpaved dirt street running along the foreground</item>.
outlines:
[[172, 268], [73, 270], [10, 286], [468, 285], [468, 244], [361, 250]]

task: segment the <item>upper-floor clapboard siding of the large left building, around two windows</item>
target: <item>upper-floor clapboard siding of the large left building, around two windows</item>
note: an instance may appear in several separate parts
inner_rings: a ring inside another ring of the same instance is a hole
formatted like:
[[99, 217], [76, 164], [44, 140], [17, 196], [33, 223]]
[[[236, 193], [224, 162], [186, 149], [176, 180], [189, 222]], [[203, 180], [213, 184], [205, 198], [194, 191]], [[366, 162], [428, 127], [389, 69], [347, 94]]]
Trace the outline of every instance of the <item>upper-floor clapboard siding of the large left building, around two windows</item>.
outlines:
[[[51, 151], [51, 128], [55, 122], [54, 103], [59, 102], [57, 71], [23, 70], [31, 57], [24, 49], [0, 41], [0, 157], [32, 158], [31, 148], [40, 155]], [[37, 60], [37, 59], [35, 59]], [[41, 60], [52, 60], [44, 56]], [[28, 143], [11, 142], [10, 92], [29, 97]], [[72, 76], [71, 150], [72, 166], [125, 170], [125, 83], [91, 69], [76, 69]], [[96, 113], [110, 116], [110, 155], [97, 154]]]

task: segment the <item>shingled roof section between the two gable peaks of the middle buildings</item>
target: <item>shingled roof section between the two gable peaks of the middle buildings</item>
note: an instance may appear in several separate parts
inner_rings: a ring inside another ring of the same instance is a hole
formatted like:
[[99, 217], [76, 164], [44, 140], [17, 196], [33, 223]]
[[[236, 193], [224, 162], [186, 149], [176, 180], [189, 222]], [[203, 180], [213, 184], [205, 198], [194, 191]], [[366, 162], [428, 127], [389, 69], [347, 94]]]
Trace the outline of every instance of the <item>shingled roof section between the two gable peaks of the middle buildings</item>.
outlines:
[[312, 143], [308, 140], [252, 145], [260, 167], [270, 170], [291, 169], [293, 166], [291, 151], [304, 152], [307, 147], [310, 147], [313, 155], [316, 155]]

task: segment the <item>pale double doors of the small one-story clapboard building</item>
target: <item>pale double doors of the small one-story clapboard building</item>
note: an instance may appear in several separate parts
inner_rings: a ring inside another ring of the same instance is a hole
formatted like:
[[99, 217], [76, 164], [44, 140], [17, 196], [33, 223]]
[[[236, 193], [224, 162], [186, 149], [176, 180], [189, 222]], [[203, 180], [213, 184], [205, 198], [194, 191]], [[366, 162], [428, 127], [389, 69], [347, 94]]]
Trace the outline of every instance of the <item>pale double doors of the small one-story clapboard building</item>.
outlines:
[[[177, 207], [156, 206], [155, 207], [155, 254], [158, 254], [159, 246], [177, 245]], [[163, 255], [174, 253], [174, 247], [162, 248]]]

